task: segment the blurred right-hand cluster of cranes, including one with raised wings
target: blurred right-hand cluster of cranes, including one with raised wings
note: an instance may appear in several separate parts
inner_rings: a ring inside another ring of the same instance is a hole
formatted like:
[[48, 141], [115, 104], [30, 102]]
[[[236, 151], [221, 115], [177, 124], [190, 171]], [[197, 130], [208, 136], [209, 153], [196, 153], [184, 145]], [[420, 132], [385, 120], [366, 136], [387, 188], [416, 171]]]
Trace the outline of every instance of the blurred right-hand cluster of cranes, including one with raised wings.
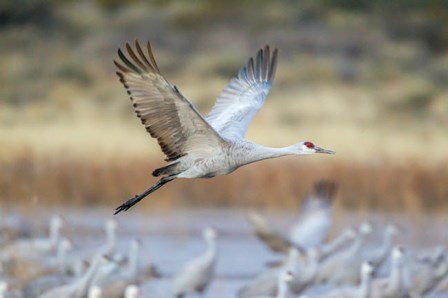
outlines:
[[249, 297], [448, 297], [448, 258], [443, 247], [417, 254], [397, 243], [400, 233], [385, 225], [380, 241], [369, 241], [369, 222], [341, 231], [326, 242], [332, 223], [335, 186], [316, 184], [302, 204], [289, 236], [257, 212], [248, 215], [257, 237], [285, 259], [244, 286], [239, 298]]

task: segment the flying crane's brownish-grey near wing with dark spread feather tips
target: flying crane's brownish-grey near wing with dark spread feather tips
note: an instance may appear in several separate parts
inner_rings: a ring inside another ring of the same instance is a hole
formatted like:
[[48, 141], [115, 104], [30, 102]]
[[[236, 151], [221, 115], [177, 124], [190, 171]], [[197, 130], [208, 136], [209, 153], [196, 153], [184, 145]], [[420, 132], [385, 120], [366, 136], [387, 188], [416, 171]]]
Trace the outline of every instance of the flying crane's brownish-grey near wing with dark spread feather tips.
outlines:
[[160, 73], [147, 43], [147, 56], [138, 41], [137, 53], [126, 43], [129, 60], [119, 49], [123, 64], [114, 61], [119, 69], [120, 81], [126, 88], [146, 130], [157, 141], [166, 155], [173, 161], [188, 154], [207, 154], [220, 148], [223, 139], [204, 120], [191, 102]]

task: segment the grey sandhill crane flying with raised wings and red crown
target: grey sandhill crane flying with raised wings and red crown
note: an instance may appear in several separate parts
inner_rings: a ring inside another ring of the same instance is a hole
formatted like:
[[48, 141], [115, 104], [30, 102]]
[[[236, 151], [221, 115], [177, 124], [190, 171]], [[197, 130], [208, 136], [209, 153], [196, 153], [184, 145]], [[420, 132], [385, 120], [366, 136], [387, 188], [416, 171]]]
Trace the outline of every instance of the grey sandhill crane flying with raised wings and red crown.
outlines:
[[121, 63], [114, 61], [117, 74], [137, 116], [157, 139], [168, 164], [152, 173], [155, 177], [163, 176], [157, 183], [118, 206], [115, 214], [128, 210], [176, 178], [212, 178], [252, 162], [285, 155], [334, 154], [310, 141], [270, 148], [244, 139], [250, 121], [272, 86], [277, 49], [271, 55], [266, 46], [255, 58], [250, 58], [218, 95], [205, 118], [162, 76], [149, 42], [147, 55], [138, 41], [135, 41], [135, 49], [126, 44], [130, 58], [118, 50]]

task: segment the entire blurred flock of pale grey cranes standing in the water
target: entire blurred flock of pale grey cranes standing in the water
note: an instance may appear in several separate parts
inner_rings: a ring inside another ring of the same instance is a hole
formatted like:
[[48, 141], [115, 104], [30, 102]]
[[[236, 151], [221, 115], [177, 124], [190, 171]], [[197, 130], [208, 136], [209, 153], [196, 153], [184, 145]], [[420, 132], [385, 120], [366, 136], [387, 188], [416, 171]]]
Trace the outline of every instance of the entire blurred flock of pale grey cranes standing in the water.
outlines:
[[[448, 258], [442, 246], [417, 253], [400, 245], [401, 229], [394, 224], [385, 224], [380, 239], [374, 240], [367, 221], [327, 241], [335, 190], [333, 183], [317, 183], [289, 234], [258, 212], [247, 214], [260, 243], [282, 258], [266, 264], [257, 276], [246, 277], [232, 297], [448, 297]], [[170, 275], [160, 273], [163, 264], [156, 270], [142, 261], [148, 251], [136, 239], [127, 252], [118, 250], [115, 220], [106, 221], [105, 239], [94, 249], [82, 249], [63, 237], [66, 223], [59, 216], [50, 219], [47, 237], [34, 237], [32, 228], [7, 216], [0, 223], [1, 298], [155, 297], [141, 285], [157, 278], [171, 279], [157, 297], [207, 296], [219, 255], [226, 253], [218, 254], [217, 231], [205, 228], [204, 252]]]

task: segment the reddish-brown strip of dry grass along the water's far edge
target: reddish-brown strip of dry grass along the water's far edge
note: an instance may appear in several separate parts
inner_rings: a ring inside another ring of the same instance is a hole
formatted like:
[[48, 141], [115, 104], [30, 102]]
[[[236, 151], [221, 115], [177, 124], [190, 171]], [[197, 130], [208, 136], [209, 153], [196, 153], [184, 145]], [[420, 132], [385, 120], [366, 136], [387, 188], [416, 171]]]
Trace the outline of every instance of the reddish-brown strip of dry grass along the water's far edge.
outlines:
[[[159, 162], [146, 158], [83, 158], [22, 152], [0, 162], [2, 204], [22, 206], [103, 205], [111, 210], [156, 181]], [[318, 179], [339, 184], [337, 206], [354, 210], [440, 211], [448, 204], [443, 165], [338, 163], [312, 158], [265, 161], [214, 179], [176, 180], [139, 208], [291, 208]]]

